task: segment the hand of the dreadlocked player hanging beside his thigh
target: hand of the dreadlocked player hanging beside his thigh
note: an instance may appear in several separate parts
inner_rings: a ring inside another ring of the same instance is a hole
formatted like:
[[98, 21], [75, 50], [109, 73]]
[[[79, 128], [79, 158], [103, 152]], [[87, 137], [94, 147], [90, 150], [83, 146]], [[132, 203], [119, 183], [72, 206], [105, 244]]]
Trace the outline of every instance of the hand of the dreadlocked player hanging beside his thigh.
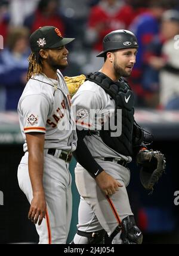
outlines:
[[35, 193], [31, 201], [28, 218], [34, 224], [36, 224], [39, 220], [38, 225], [41, 225], [43, 218], [45, 218], [46, 210], [47, 204], [45, 201], [44, 192]]

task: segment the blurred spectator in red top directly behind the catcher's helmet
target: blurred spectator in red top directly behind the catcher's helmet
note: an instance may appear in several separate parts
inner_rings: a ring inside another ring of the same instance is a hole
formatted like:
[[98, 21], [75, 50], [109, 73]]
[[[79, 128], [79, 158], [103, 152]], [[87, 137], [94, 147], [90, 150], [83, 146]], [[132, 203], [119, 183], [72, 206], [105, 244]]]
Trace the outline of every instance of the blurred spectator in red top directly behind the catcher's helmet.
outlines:
[[104, 36], [113, 30], [127, 28], [132, 17], [132, 8], [125, 5], [124, 1], [101, 0], [90, 11], [87, 43], [101, 52]]

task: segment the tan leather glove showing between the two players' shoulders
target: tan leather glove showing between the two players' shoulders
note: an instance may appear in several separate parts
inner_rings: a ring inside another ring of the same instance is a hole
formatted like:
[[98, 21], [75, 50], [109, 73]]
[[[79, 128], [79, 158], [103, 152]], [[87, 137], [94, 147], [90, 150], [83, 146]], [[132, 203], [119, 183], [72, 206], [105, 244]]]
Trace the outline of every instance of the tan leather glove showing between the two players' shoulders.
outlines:
[[85, 75], [81, 74], [80, 76], [75, 76], [75, 77], [64, 77], [64, 80], [67, 84], [67, 88], [69, 89], [70, 92], [70, 96], [72, 97], [74, 94], [76, 94], [76, 92], [79, 89], [79, 86], [82, 85], [82, 83], [85, 82]]

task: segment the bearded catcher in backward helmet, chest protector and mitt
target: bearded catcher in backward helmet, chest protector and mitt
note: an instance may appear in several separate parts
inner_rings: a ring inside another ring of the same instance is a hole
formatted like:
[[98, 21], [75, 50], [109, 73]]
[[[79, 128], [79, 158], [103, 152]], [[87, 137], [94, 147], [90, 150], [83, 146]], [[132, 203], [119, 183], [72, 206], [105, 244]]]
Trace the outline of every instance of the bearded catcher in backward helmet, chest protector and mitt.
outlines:
[[[122, 77], [129, 77], [137, 55], [137, 38], [126, 30], [104, 37], [100, 71], [91, 73], [72, 98], [76, 106], [78, 146], [74, 152], [79, 204], [78, 230], [72, 243], [103, 243], [104, 235], [118, 243], [141, 243], [126, 186], [126, 167], [137, 155], [146, 189], [165, 169], [161, 152], [148, 150], [144, 130], [134, 121], [134, 95]], [[150, 137], [150, 136], [148, 136]]]

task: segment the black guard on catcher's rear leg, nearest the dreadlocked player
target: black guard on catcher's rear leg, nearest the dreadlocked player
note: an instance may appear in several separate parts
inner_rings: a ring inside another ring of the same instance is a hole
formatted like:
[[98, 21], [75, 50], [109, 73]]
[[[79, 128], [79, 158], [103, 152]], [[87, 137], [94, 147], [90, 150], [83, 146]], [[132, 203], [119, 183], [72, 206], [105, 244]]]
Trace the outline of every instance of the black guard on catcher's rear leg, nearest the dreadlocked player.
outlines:
[[104, 236], [106, 234], [105, 230], [98, 230], [95, 232], [84, 232], [77, 230], [76, 232], [79, 236], [85, 236], [88, 238], [89, 244], [104, 244]]

